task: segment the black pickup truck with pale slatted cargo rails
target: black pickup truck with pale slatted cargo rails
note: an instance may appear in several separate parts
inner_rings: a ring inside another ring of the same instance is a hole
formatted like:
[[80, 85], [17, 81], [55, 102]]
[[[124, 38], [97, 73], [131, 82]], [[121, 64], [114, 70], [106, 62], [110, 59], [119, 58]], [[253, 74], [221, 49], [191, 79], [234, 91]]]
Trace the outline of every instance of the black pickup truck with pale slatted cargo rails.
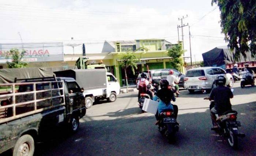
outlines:
[[0, 93], [0, 153], [11, 149], [14, 156], [33, 156], [34, 142], [56, 126], [64, 126], [70, 133], [78, 131], [86, 108], [83, 88], [74, 79], [20, 80], [0, 84], [10, 88]]

